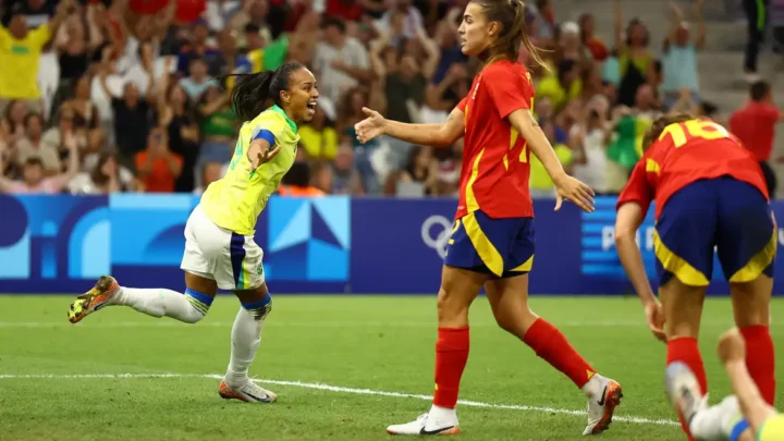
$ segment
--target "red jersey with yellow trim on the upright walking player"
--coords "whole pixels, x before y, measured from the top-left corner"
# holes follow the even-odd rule
[[[530,152],[506,120],[532,101],[534,83],[520,63],[497,61],[474,78],[457,105],[465,114],[465,135],[455,219],[477,210],[497,219],[534,217]]]

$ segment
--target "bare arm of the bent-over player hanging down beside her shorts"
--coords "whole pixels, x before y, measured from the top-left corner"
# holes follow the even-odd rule
[[[645,219],[645,213],[639,204],[628,203],[618,208],[615,219],[615,248],[621,265],[626,270],[626,274],[645,307],[648,328],[657,339],[666,342],[663,329],[664,314],[648,281],[645,264],[642,264],[642,254],[637,246],[637,230],[642,224],[642,219]]]

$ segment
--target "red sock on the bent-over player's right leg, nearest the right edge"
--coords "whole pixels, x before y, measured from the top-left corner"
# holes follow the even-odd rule
[[[775,400],[775,355],[770,328],[751,326],[740,330],[746,341],[746,368],[768,404]]]

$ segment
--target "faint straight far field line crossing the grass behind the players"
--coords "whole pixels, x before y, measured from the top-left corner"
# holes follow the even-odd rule
[[[231,321],[205,321],[197,323],[199,327],[211,328],[231,328]],[[561,328],[646,328],[646,323],[640,320],[608,320],[608,321],[564,321],[555,323]],[[65,320],[62,321],[0,321],[0,328],[177,328],[183,327],[179,321],[174,320],[149,320],[149,321],[90,321],[85,323],[72,324]],[[271,327],[291,327],[291,328],[434,328],[436,321],[421,322],[393,322],[393,321],[275,321],[271,318],[266,326]],[[497,328],[495,323],[480,322],[471,323],[471,328]],[[702,322],[703,327],[732,327],[732,321],[708,321]],[[772,324],[775,327],[775,324]]]

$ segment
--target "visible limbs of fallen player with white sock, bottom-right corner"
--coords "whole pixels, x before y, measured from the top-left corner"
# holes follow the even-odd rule
[[[735,395],[712,407],[707,407],[707,396],[700,392],[697,377],[688,366],[677,362],[667,367],[667,393],[689,421],[694,437],[700,441],[784,440],[784,415],[765,403],[749,376],[746,344],[737,328],[721,336],[718,353]]]

